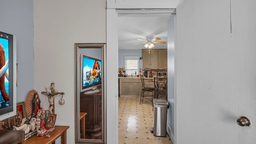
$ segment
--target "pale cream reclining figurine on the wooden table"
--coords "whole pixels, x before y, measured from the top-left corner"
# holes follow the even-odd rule
[[[32,117],[29,124],[25,124],[26,118],[23,118],[19,127],[13,126],[13,130],[24,130],[25,134],[36,129],[36,118]]]

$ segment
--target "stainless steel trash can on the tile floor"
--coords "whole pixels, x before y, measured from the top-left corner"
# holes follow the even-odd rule
[[[167,109],[169,103],[165,99],[154,98],[153,99],[153,131],[154,136],[166,137],[166,121],[167,121]]]

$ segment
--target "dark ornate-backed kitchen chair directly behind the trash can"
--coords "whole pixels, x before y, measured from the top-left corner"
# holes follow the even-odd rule
[[[164,98],[167,100],[167,78],[154,78],[154,98]]]

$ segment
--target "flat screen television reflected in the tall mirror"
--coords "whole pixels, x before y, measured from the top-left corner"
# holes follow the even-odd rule
[[[101,60],[85,55],[80,55],[81,64],[81,89],[84,94],[100,91],[101,87]]]

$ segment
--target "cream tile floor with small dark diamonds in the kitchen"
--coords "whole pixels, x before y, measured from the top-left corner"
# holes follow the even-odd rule
[[[169,135],[154,136],[152,102],[140,97],[119,97],[118,144],[172,144]]]

